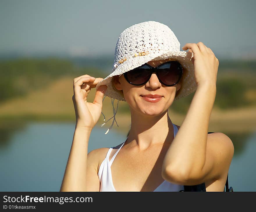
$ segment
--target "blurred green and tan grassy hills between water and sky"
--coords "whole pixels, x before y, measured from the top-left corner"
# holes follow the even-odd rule
[[[227,131],[255,129],[255,65],[255,62],[220,61],[216,100],[209,126],[215,132],[223,127]],[[76,66],[70,60],[58,58],[1,61],[1,120],[75,121],[72,80],[83,74],[102,78],[108,75],[95,67]],[[95,89],[92,89],[89,101],[93,101],[94,95]],[[193,95],[175,101],[170,107],[170,115],[177,124],[182,123]],[[115,107],[116,104],[117,101]],[[113,114],[108,97],[103,103],[103,113],[106,119]],[[130,113],[126,102],[119,102],[116,119],[120,128],[127,131]],[[102,123],[103,116],[99,120],[99,124]]]

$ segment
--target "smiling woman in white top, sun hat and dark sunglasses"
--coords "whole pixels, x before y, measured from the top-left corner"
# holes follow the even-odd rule
[[[223,191],[234,146],[221,132],[207,133],[219,62],[202,42],[185,44],[188,52],[179,51],[179,45],[164,24],[136,24],[119,37],[112,74],[74,79],[77,121],[61,191],[180,191],[202,183],[206,191]],[[182,125],[173,124],[168,108],[195,88]],[[128,103],[131,130],[120,145],[87,155],[104,95]]]

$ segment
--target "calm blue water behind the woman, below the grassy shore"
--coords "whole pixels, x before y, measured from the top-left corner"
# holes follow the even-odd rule
[[[74,123],[31,122],[19,130],[2,131],[0,191],[59,191],[74,127]],[[106,128],[93,129],[89,152],[118,145],[126,139],[125,134],[118,134],[113,129],[106,135],[105,132]],[[256,131],[249,135],[228,136],[235,142],[229,186],[234,191],[256,191]]]

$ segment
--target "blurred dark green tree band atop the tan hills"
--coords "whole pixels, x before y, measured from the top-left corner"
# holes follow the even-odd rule
[[[255,98],[247,98],[248,91],[255,91],[255,61],[220,61],[215,105],[222,108],[236,108],[256,104]],[[77,77],[89,74],[106,77],[107,74],[95,67],[78,67],[67,59],[59,58],[21,58],[0,61],[0,103],[28,94],[33,89],[41,89],[50,82],[68,75]],[[193,93],[194,94],[194,93]],[[172,109],[185,113],[193,94],[174,101]],[[118,108],[128,112],[128,106]]]

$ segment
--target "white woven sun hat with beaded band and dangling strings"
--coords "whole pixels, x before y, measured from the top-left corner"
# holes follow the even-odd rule
[[[173,58],[182,65],[181,88],[174,98],[174,100],[178,100],[191,94],[197,87],[192,62],[193,53],[180,51],[180,43],[173,31],[165,24],[157,21],[145,21],[135,24],[120,34],[115,46],[112,73],[96,85],[96,90],[101,85],[107,86],[104,98],[106,96],[111,98],[114,113],[114,116],[111,117],[114,118],[113,123],[117,111],[114,109],[114,100],[112,98],[125,101],[122,90],[113,88],[113,76],[121,75],[151,60],[164,60],[167,58]],[[113,123],[108,131],[112,128]]]

